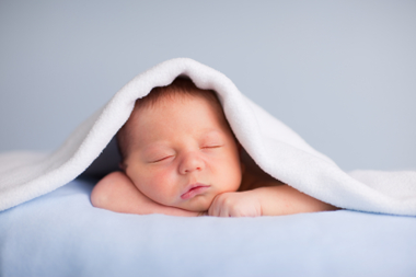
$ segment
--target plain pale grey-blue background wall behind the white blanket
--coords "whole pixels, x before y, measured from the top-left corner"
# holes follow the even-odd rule
[[[0,152],[189,57],[344,170],[416,169],[416,1],[0,1]]]

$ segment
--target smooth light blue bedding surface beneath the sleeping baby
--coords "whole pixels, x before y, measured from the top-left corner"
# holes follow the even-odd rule
[[[91,206],[76,180],[0,212],[0,276],[416,276],[416,218],[181,218]]]

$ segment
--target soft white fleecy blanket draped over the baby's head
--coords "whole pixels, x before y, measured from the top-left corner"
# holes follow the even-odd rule
[[[236,138],[271,176],[340,208],[416,216],[416,172],[347,174],[241,94],[224,74],[187,58],[167,60],[137,76],[55,152],[1,154],[0,210],[47,194],[84,172],[128,119],[135,101],[178,76],[218,93]]]

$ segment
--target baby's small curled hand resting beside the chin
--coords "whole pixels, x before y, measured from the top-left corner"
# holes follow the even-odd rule
[[[208,216],[259,217],[262,216],[262,206],[254,191],[223,193],[213,199]]]

